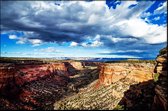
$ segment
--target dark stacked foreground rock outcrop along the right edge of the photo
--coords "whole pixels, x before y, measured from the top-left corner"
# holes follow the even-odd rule
[[[154,72],[159,74],[159,78],[155,87],[153,110],[168,110],[167,47],[160,51],[156,62]]]

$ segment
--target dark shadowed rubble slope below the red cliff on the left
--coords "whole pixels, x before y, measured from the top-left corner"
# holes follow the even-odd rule
[[[71,64],[66,63],[66,65],[70,75],[75,76],[77,72],[80,72]],[[57,69],[54,73],[24,82],[22,85],[16,84],[17,80],[13,77],[0,92],[0,102],[2,103],[0,109],[53,109],[55,101],[66,95],[77,93],[79,88],[98,79],[98,76],[93,77],[93,73],[97,70],[89,71],[88,74],[69,78],[67,75],[61,75],[61,72],[65,72],[64,70]]]

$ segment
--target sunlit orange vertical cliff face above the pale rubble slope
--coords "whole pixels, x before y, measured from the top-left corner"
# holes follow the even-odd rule
[[[99,83],[110,85],[122,78],[129,78],[137,82],[153,79],[154,66],[150,63],[113,63],[99,66]]]

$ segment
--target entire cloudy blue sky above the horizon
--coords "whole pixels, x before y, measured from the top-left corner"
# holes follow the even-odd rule
[[[1,57],[155,58],[167,1],[1,1]]]

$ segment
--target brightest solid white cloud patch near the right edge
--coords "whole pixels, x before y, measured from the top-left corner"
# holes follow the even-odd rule
[[[122,33],[122,36],[133,36],[142,38],[146,43],[162,43],[166,42],[166,27],[158,26],[157,24],[148,24],[142,19],[134,18],[123,20],[116,24],[116,27]]]

